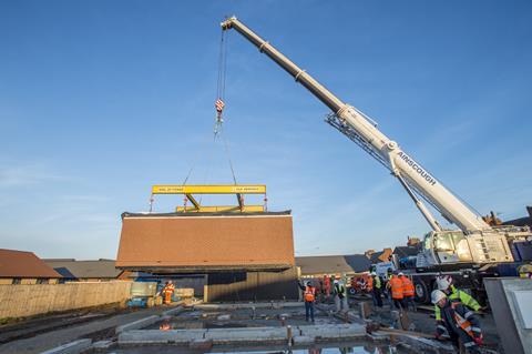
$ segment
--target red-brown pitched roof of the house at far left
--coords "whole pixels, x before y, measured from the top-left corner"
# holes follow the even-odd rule
[[[0,277],[61,277],[33,252],[0,249]]]

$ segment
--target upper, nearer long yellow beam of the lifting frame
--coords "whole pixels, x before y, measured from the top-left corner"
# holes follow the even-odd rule
[[[266,194],[264,184],[160,184],[152,186],[152,194]]]

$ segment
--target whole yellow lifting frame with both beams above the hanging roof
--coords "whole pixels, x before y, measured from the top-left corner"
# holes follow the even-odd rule
[[[175,209],[176,212],[183,213],[264,212],[267,201],[266,185],[264,184],[160,184],[152,186],[152,202],[155,194],[184,194],[186,196],[185,205]],[[235,194],[238,205],[201,205],[193,194]],[[264,194],[265,205],[244,205],[243,194]],[[186,201],[193,205],[187,206]]]

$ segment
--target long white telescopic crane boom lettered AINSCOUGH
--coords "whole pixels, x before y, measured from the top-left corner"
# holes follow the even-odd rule
[[[434,231],[441,231],[440,225],[429,210],[413,193],[417,192],[428,200],[448,221],[454,223],[463,233],[489,231],[491,227],[469,209],[460,199],[443,186],[432,174],[421,166],[411,155],[407,154],[395,141],[379,131],[376,124],[367,119],[355,107],[342,102],[332,92],[316,81],[305,70],[300,69],[282,52],[267,41],[262,39],[244,23],[232,17],[222,22],[222,29],[235,29],[249,40],[258,50],[268,55],[286,72],[303,84],[310,93],[327,105],[332,115],[329,122],[337,129],[354,136],[351,140],[358,143],[370,154],[387,165],[392,174],[399,179],[409,195],[416,202],[417,208],[427,219]]]

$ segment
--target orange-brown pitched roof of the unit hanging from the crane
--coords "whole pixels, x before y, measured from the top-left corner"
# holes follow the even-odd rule
[[[289,212],[124,213],[116,265],[153,272],[290,267],[293,219]]]

